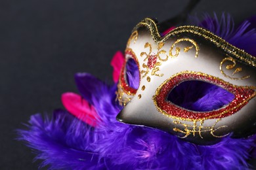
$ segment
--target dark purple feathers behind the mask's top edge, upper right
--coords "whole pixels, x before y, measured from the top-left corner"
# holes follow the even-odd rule
[[[220,20],[216,14],[213,17],[205,14],[202,22],[196,17],[190,17],[190,20],[193,25],[204,27],[230,44],[256,56],[256,16],[245,20],[237,28],[232,17],[224,13]]]

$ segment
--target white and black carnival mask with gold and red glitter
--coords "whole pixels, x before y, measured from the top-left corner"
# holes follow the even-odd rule
[[[126,63],[117,97],[124,109],[117,120],[154,127],[196,144],[213,144],[222,137],[248,137],[255,133],[256,58],[201,27],[177,27],[161,36],[150,18],[140,22],[127,42]],[[137,84],[127,80],[127,67],[137,66]],[[131,75],[130,75],[131,76]],[[189,86],[189,88],[184,88]],[[211,86],[215,109],[200,102]],[[190,101],[179,88],[192,91]],[[214,94],[215,93],[215,94]],[[214,103],[216,104],[216,103]]]

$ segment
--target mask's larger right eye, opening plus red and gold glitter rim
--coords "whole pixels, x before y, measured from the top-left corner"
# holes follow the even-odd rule
[[[182,86],[186,87],[184,91]],[[188,88],[189,86],[195,88]],[[190,93],[188,89],[191,89]],[[223,92],[225,95],[218,96],[219,92],[216,94],[211,92],[209,95],[209,90],[220,90],[220,93]],[[226,98],[224,102],[222,97]],[[198,121],[230,116],[242,109],[253,97],[255,90],[251,86],[235,86],[205,73],[184,71],[165,80],[156,90],[153,101],[158,111],[166,116],[179,120]],[[214,101],[211,101],[213,99]],[[218,99],[222,102],[215,105],[214,102],[219,102]],[[198,103],[200,100],[202,102]],[[196,107],[194,107],[195,103]]]

